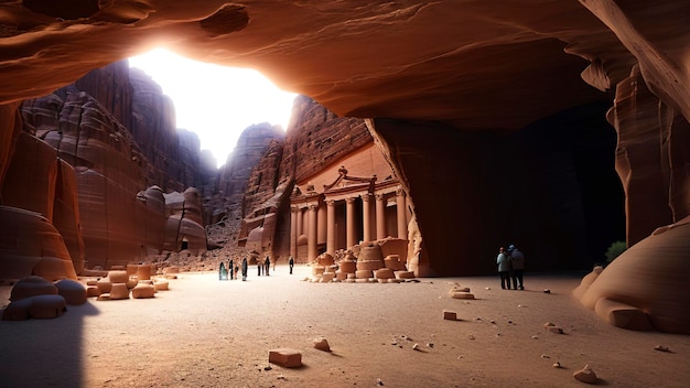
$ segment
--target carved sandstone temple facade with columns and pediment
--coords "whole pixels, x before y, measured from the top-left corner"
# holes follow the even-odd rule
[[[409,200],[370,143],[297,182],[290,198],[290,255],[304,262],[362,241],[407,239]]]

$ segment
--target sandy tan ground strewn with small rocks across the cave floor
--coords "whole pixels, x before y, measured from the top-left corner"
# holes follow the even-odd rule
[[[2,321],[0,386],[582,387],[572,375],[585,364],[601,386],[690,385],[690,336],[608,325],[570,294],[583,273],[527,273],[527,290],[513,291],[497,277],[311,283],[309,271],[257,277],[255,267],[246,282],[182,273],[154,299]],[[454,283],[476,300],[451,299]],[[461,321],[443,320],[444,309]],[[313,347],[319,336],[332,352]],[[301,351],[303,366],[269,364],[277,347]]]

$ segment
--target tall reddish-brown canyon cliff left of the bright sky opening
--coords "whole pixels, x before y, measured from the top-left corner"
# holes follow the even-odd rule
[[[72,273],[180,250],[187,240],[195,254],[206,249],[202,197],[185,192],[181,209],[162,196],[200,177],[198,138],[177,132],[170,98],[134,74],[126,61],[114,63],[19,110],[2,204],[54,225],[68,252],[58,258],[73,262]],[[180,218],[185,227],[169,241],[168,225]]]

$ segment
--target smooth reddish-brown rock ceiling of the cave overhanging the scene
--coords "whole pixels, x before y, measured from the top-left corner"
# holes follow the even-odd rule
[[[467,130],[605,99],[639,63],[687,117],[688,14],[684,1],[4,1],[0,104],[165,46],[339,116]]]

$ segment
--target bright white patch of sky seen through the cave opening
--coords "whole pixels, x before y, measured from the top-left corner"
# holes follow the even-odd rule
[[[175,106],[177,128],[195,132],[202,150],[225,164],[241,132],[270,122],[288,129],[297,94],[283,91],[259,72],[196,62],[165,48],[130,57]]]

